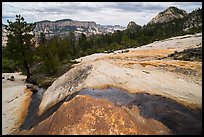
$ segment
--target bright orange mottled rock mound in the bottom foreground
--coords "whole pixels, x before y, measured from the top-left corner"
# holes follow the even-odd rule
[[[77,95],[30,134],[171,134],[159,121],[146,119],[139,109],[115,106],[104,99]]]

